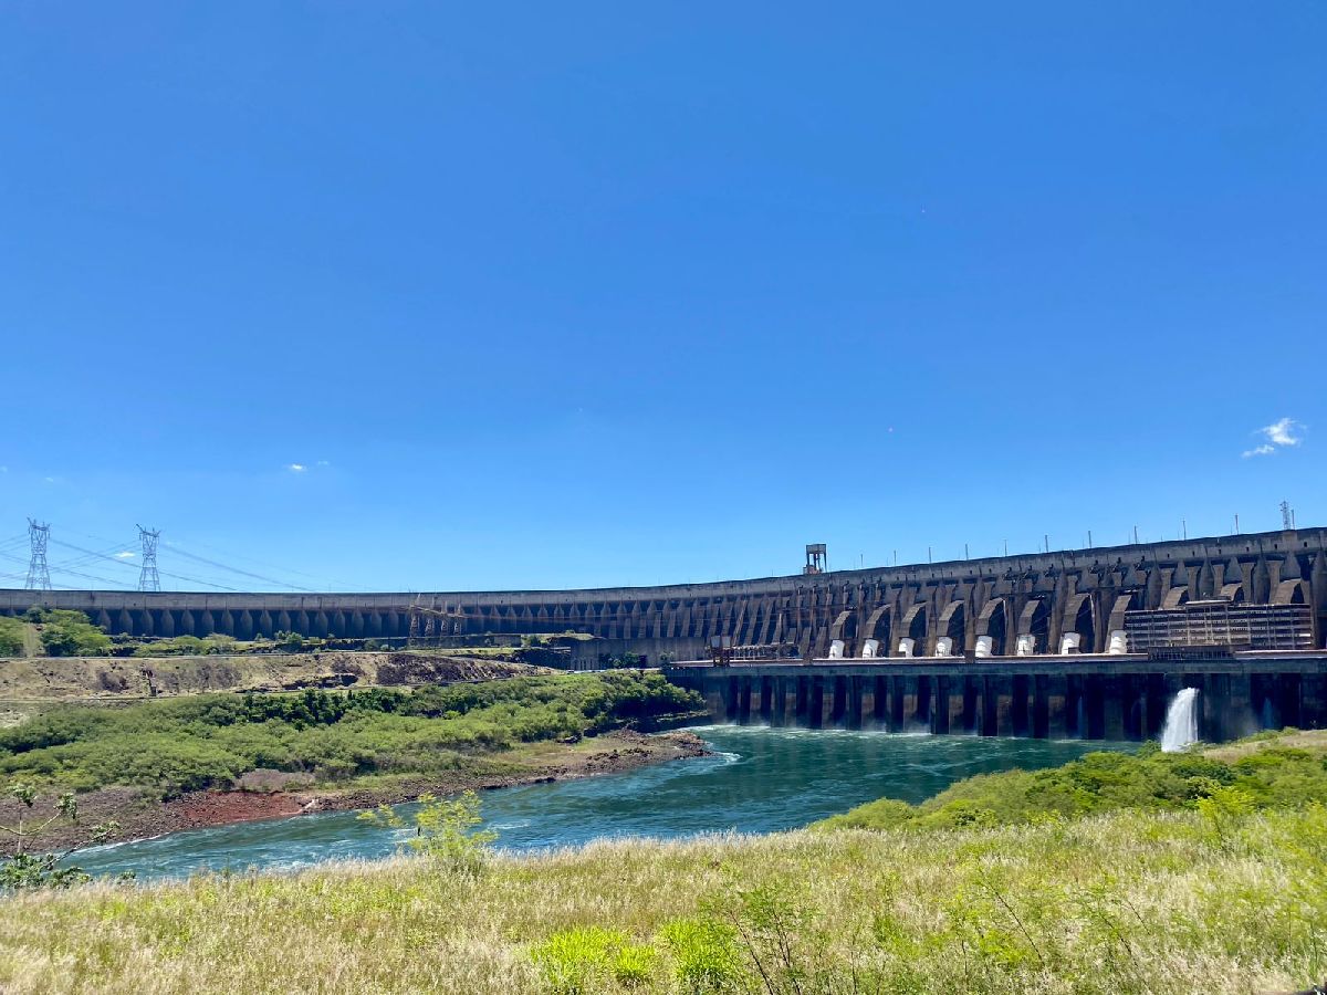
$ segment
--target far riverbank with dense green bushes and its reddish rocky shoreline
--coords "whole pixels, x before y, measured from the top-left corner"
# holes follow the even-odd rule
[[[610,671],[297,695],[214,694],[115,708],[54,706],[0,730],[0,825],[41,824],[74,792],[80,820],[56,820],[27,848],[65,848],[113,820],[117,838],[301,812],[405,801],[429,791],[587,776],[685,755],[694,738],[642,736],[695,695],[658,674]],[[15,833],[0,848],[17,846]]]

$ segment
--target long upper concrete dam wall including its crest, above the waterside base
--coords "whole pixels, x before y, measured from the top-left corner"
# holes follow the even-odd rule
[[[820,549],[820,547],[816,547]],[[1327,634],[1327,529],[1217,536],[787,577],[583,590],[279,594],[0,590],[0,614],[88,613],[110,633],[369,638],[576,631],[577,655],[889,659],[1108,654],[1128,613],[1189,604],[1290,609]],[[1303,621],[1307,620],[1307,621]],[[1141,630],[1140,630],[1141,631]],[[1298,645],[1298,643],[1296,643]],[[1112,646],[1115,647],[1112,650]]]

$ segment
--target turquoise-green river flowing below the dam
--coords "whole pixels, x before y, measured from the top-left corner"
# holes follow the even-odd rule
[[[921,801],[974,773],[1054,767],[1125,743],[889,735],[706,726],[714,756],[629,773],[484,792],[484,819],[510,850],[573,846],[606,836],[677,837],[791,829],[878,797]],[[402,807],[409,809],[409,807]],[[194,872],[292,870],[326,860],[386,857],[399,837],[325,812],[192,829],[98,846],[77,862],[139,880]]]

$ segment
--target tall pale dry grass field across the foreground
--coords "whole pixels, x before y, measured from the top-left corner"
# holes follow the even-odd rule
[[[727,974],[679,976],[683,951],[664,937],[697,918],[727,930]],[[1259,992],[1327,975],[1324,922],[1320,807],[1117,812],[936,833],[600,842],[498,857],[478,880],[399,858],[20,896],[0,902],[0,987]],[[549,937],[577,941],[588,927],[646,947],[644,974],[536,959]]]

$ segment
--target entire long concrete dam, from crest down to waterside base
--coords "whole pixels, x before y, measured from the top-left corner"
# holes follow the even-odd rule
[[[0,592],[32,605],[139,637],[576,631],[576,663],[640,654],[736,720],[1139,738],[1194,686],[1209,736],[1327,726],[1320,528],[650,588]]]

